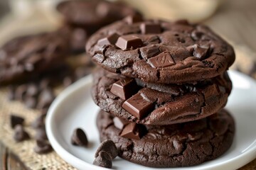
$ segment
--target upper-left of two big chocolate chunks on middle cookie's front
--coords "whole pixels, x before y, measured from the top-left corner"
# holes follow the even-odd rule
[[[137,91],[137,84],[135,83],[134,79],[125,78],[115,82],[110,92],[123,100],[130,98],[133,94]]]

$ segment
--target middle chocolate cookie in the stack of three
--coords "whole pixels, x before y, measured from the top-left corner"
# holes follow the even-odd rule
[[[228,74],[193,84],[151,84],[98,69],[92,98],[103,111],[136,123],[171,125],[205,118],[225,106]]]

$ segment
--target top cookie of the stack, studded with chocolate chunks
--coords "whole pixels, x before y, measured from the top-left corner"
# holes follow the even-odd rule
[[[175,84],[216,77],[233,64],[233,47],[207,26],[129,16],[100,29],[86,45],[109,72]]]

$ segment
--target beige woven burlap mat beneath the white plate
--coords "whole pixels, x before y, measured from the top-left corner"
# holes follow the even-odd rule
[[[244,72],[248,72],[247,68],[252,63],[252,60],[256,59],[254,52],[250,52],[244,47],[235,47],[237,60],[233,68],[240,68]],[[60,90],[57,90],[57,93]],[[30,135],[34,135],[35,132],[31,128],[31,123],[40,114],[39,111],[28,109],[22,103],[18,101],[9,101],[7,88],[0,89],[0,140],[9,147],[14,154],[16,154],[21,162],[25,164],[28,169],[74,169],[61,159],[55,152],[49,154],[39,155],[33,152],[35,147],[35,140],[27,140],[24,142],[15,142],[13,140],[13,130],[9,125],[9,114],[15,113],[26,118],[25,128]],[[242,167],[241,169],[251,170],[256,169],[256,159]]]

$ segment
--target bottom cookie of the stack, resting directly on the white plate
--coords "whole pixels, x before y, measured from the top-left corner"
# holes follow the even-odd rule
[[[146,125],[140,140],[121,137],[111,114],[97,115],[100,140],[111,139],[119,157],[151,167],[193,166],[219,157],[233,142],[235,123],[231,115],[219,111],[201,120],[166,126]]]

